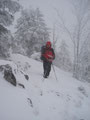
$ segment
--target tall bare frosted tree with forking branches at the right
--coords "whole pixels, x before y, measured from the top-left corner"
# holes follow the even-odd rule
[[[73,6],[73,15],[76,17],[73,31],[69,30],[59,11],[57,9],[56,11],[60,19],[60,27],[69,35],[74,45],[73,76],[79,79],[81,48],[88,34],[90,34],[90,0],[70,0],[70,3]]]

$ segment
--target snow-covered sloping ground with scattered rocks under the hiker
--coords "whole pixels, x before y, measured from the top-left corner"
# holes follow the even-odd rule
[[[0,72],[0,120],[90,120],[90,83],[81,82],[55,67],[43,79],[42,63],[13,54],[9,64],[18,83],[14,87]],[[29,76],[29,80],[24,75]]]

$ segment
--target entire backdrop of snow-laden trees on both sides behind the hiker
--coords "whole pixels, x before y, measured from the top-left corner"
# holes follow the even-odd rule
[[[68,35],[73,44],[73,62],[70,57],[69,46],[62,40],[57,50],[57,42],[60,39],[56,33],[57,27],[51,29],[46,25],[44,15],[39,8],[23,9],[12,0],[0,0],[0,58],[9,58],[11,53],[20,53],[30,57],[40,52],[41,46],[53,36],[53,48],[56,59],[54,64],[59,68],[70,71],[78,80],[90,82],[90,0],[69,0],[72,5],[72,14],[75,22],[72,29],[66,26],[65,20],[58,9],[55,9],[58,17],[56,26],[60,32]],[[14,21],[16,12],[21,15],[15,25],[14,35],[8,30]],[[37,57],[37,56],[36,56]]]

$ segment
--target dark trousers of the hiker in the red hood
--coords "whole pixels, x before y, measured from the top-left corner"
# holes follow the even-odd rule
[[[44,76],[47,77],[51,71],[51,64],[50,62],[43,61],[43,69],[44,69]]]

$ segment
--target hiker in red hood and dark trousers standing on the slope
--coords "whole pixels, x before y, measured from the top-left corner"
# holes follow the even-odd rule
[[[44,74],[43,77],[47,78],[51,71],[52,61],[55,59],[55,53],[51,46],[51,42],[47,41],[45,46],[41,48],[41,60],[43,61]]]

